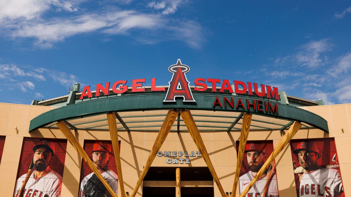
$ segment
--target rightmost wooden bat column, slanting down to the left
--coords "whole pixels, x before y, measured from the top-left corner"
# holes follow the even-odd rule
[[[285,146],[290,142],[291,138],[296,134],[296,132],[301,128],[302,124],[295,121],[288,132],[284,135],[282,140],[278,143],[277,147],[273,150],[271,156],[268,157],[266,162],[263,164],[261,169],[257,172],[257,175],[252,179],[252,181],[247,185],[246,189],[241,193],[240,197],[244,197],[247,192],[252,188],[252,186],[256,183],[257,179],[263,175],[264,171],[268,168],[268,166],[273,162],[273,160],[279,155],[279,153],[285,148]]]

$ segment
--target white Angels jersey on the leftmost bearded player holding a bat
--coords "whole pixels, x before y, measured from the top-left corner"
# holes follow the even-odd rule
[[[35,171],[34,171],[35,172]],[[57,172],[50,170],[40,178],[34,178],[34,172],[29,176],[23,196],[25,197],[60,197],[62,177]],[[27,174],[17,179],[16,196]]]

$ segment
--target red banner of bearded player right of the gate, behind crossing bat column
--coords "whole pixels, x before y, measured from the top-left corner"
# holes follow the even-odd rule
[[[256,176],[273,151],[273,143],[247,142],[239,177],[240,194]],[[272,163],[274,164],[274,162]],[[277,176],[273,165],[265,170],[245,197],[278,197]]]

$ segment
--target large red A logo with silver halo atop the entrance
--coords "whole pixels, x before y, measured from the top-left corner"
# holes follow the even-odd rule
[[[185,76],[185,73],[189,72],[190,68],[185,64],[181,64],[180,59],[178,59],[177,64],[173,64],[168,70],[173,75],[171,81],[168,82],[170,87],[163,102],[175,102],[176,97],[183,97],[183,102],[196,102],[190,90],[190,82]]]

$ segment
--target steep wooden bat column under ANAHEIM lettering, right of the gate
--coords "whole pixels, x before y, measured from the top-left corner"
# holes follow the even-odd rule
[[[241,125],[241,132],[240,132],[237,168],[235,170],[234,184],[233,184],[233,190],[232,190],[231,197],[235,196],[235,194],[237,192],[239,173],[240,173],[241,163],[243,162],[244,150],[245,150],[247,137],[249,136],[251,118],[252,118],[252,114],[249,114],[246,112],[244,113],[243,124]]]

